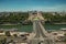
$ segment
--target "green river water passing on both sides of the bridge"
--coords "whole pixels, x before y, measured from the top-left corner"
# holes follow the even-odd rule
[[[44,24],[45,30],[61,30],[66,29],[66,24]],[[22,32],[32,32],[32,25],[0,25],[0,29],[11,30],[18,29],[18,31]]]

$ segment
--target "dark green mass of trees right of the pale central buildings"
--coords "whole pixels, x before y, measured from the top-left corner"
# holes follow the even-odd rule
[[[58,13],[43,13],[43,16],[48,22],[66,22],[66,14],[58,14]]]

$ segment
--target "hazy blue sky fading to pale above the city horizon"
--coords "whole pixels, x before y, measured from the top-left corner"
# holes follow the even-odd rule
[[[0,11],[66,11],[66,0],[0,0]]]

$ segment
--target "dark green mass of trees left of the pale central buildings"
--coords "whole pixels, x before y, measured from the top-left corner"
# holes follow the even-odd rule
[[[28,12],[9,13],[0,16],[0,23],[18,23],[26,20],[29,16]]]

